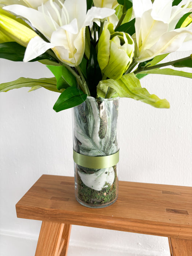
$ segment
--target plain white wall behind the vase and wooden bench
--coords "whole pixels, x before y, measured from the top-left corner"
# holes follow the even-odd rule
[[[182,56],[170,55],[167,61]],[[20,76],[41,78],[52,74],[40,63],[0,59],[0,83]],[[121,99],[119,178],[191,186],[192,80],[148,75],[141,82],[150,93],[166,98],[170,109]],[[38,237],[41,222],[18,219],[15,211],[15,204],[31,185],[42,174],[74,175],[71,110],[54,112],[57,93],[43,88],[28,90],[0,93],[0,233],[15,236],[14,241],[18,237]],[[90,255],[90,248],[118,249],[128,256],[169,255],[167,238],[80,226],[72,227],[70,243],[83,246],[78,253],[84,256]],[[35,250],[35,242],[31,246]],[[29,256],[22,248],[18,250],[20,256]],[[74,249],[69,253],[72,256],[77,252]]]

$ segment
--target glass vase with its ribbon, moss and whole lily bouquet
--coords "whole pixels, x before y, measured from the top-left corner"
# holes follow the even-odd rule
[[[140,82],[148,74],[192,78],[166,68],[192,68],[192,54],[163,63],[190,50],[190,0],[0,0],[0,57],[39,61],[53,73],[2,83],[0,91],[44,87],[60,94],[56,112],[73,108],[76,198],[89,207],[117,199],[118,98],[169,108]],[[99,164],[90,163],[95,157]]]

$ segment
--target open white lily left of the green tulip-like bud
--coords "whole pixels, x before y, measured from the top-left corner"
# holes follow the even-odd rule
[[[97,7],[87,11],[86,0],[65,0],[64,4],[60,0],[49,0],[38,7],[38,10],[22,5],[9,5],[4,9],[29,20],[49,41],[40,37],[31,39],[24,62],[51,48],[63,63],[70,66],[79,65],[83,58],[85,27],[91,25],[94,19],[104,19],[115,12],[109,8]]]

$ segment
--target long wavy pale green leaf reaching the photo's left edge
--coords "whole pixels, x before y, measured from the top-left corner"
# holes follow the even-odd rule
[[[32,78],[20,77],[19,79],[12,82],[1,83],[0,92],[9,91],[12,89],[19,89],[22,87],[34,87],[34,86],[41,86],[50,91],[56,91],[57,93],[61,93],[63,91],[63,90],[61,91],[57,90],[55,78],[32,79]]]

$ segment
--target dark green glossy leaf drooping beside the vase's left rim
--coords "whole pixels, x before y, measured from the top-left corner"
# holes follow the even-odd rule
[[[61,93],[53,109],[59,112],[64,109],[73,108],[83,103],[87,98],[87,94],[84,94],[81,90],[76,87],[68,87]]]

